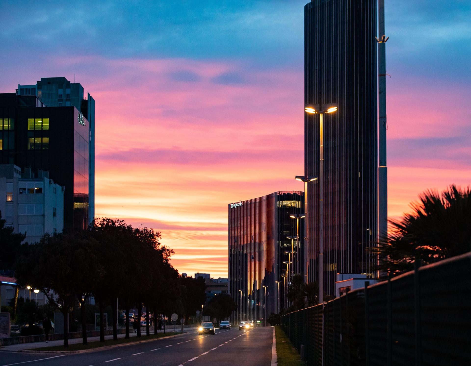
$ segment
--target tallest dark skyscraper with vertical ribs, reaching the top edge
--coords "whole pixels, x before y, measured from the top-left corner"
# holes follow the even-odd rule
[[[374,276],[377,238],[376,0],[304,7],[304,103],[324,119],[324,291],[337,273]],[[305,114],[305,175],[319,176],[319,114]],[[308,187],[308,279],[318,280],[319,182]]]

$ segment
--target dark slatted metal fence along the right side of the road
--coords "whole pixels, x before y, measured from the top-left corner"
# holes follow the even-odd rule
[[[324,322],[323,322],[324,318]],[[294,311],[308,365],[471,365],[471,253]]]

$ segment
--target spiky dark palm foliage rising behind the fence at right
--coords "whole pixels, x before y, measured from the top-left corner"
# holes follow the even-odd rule
[[[471,190],[451,185],[441,194],[428,190],[411,203],[412,213],[392,226],[386,241],[380,241],[382,278],[412,271],[414,262],[435,263],[471,250]]]

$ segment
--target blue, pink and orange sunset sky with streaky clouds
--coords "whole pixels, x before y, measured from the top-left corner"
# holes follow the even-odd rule
[[[0,93],[75,74],[96,100],[96,215],[161,231],[180,272],[227,277],[227,204],[303,189],[306,2],[1,1]],[[471,2],[385,9],[400,217],[471,181]]]

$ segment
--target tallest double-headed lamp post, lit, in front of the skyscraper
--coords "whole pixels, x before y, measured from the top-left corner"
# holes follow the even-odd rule
[[[337,111],[337,104],[324,104],[322,109],[318,104],[304,108],[306,113],[319,114],[319,302],[324,302],[324,113]]]

